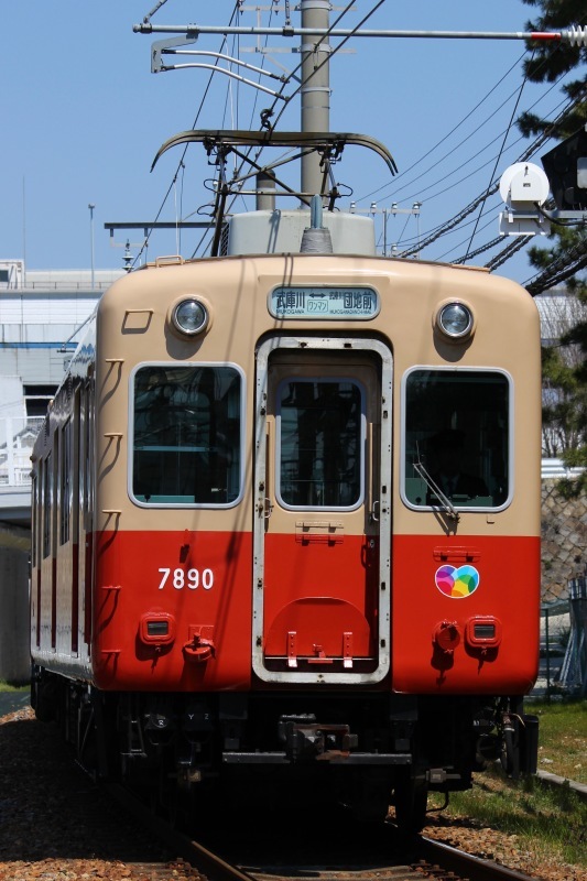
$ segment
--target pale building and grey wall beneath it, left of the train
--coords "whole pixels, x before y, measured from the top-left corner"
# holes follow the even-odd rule
[[[30,671],[32,447],[85,323],[122,274],[0,260],[0,678],[9,682]]]

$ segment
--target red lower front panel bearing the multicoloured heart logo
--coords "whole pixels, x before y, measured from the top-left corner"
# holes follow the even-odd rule
[[[540,646],[537,537],[393,540],[392,687],[525,694]]]

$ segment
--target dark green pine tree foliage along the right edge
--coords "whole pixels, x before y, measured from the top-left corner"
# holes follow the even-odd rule
[[[524,0],[540,11],[528,22],[529,31],[567,29],[573,24],[587,24],[585,0]],[[572,70],[585,69],[587,47],[544,42],[529,45],[531,56],[525,62],[524,74],[533,83],[555,83]],[[563,86],[569,100],[568,111],[553,123],[533,113],[523,113],[518,121],[522,134],[530,137],[548,133],[564,140],[587,123],[587,75]],[[553,226],[552,247],[532,248],[530,262],[540,272],[565,265],[574,273],[565,279],[566,290],[583,304],[583,315],[570,324],[558,342],[543,350],[545,400],[543,418],[551,431],[556,455],[566,465],[587,467],[587,232],[585,227]],[[556,276],[556,273],[554,273]],[[561,275],[558,276],[561,278]],[[577,481],[565,481],[568,492],[587,489],[587,471]]]

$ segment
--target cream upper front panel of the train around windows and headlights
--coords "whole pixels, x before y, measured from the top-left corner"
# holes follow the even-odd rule
[[[369,286],[379,296],[379,314],[368,320],[275,318],[268,297],[278,286]],[[170,324],[172,304],[198,296],[210,311],[207,331],[182,338]],[[438,305],[457,300],[469,305],[475,331],[465,342],[449,342],[435,330]],[[514,481],[524,487],[494,514],[464,512],[458,531],[491,534],[540,532],[540,322],[532,297],[518,284],[483,271],[420,261],[339,255],[217,258],[181,265],[150,267],[120,280],[98,308],[96,367],[98,418],[98,507],[120,510],[121,525],[140,509],[126,486],[129,382],[137,365],[202,361],[236,365],[246,377],[244,494],[227,526],[226,510],[170,510],[166,529],[226,530],[250,526],[251,452],[254,443],[254,354],[275,334],[365,335],[385,341],[393,355],[393,531],[442,534],[430,511],[410,510],[400,500],[401,382],[414,366],[494,368],[513,380]],[[101,463],[101,470],[100,470]],[[141,524],[160,521],[156,509],[142,510]],[[99,525],[105,527],[108,514]]]

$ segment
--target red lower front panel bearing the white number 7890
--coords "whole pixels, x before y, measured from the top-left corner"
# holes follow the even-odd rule
[[[250,533],[101,533],[93,633],[100,688],[248,688]]]

